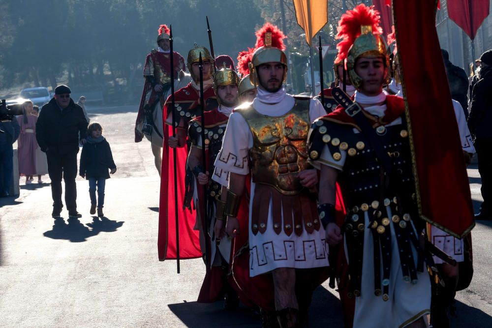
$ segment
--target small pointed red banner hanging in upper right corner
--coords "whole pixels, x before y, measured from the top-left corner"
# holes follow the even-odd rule
[[[448,16],[469,37],[474,39],[477,30],[489,16],[490,0],[448,0]]]

